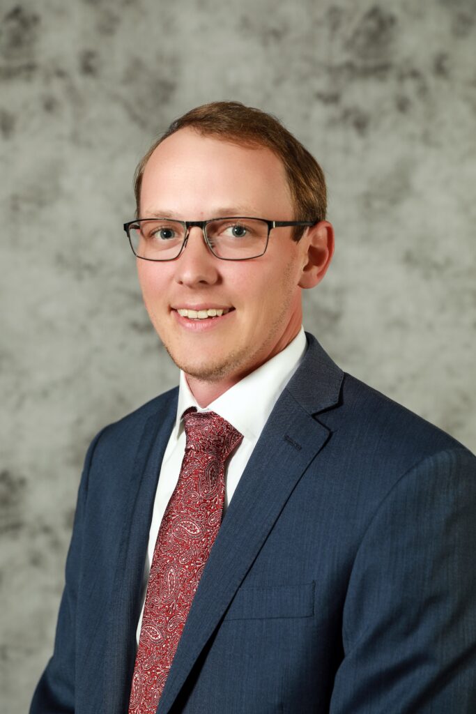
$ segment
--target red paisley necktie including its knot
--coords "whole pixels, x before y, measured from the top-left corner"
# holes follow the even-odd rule
[[[148,578],[129,714],[155,714],[220,528],[225,461],[242,434],[212,412],[183,414],[186,448],[175,491],[158,531]]]

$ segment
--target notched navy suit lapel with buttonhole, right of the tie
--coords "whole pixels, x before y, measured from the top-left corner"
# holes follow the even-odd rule
[[[308,339],[303,363],[276,403],[223,519],[173,659],[160,714],[170,712],[290,494],[328,439],[328,428],[313,415],[337,403],[343,373],[312,336]]]

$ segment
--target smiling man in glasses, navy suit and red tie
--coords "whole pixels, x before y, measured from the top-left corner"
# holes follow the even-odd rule
[[[474,713],[476,460],[303,333],[334,247],[318,164],[210,104],[136,198],[180,388],[89,448],[31,712]]]

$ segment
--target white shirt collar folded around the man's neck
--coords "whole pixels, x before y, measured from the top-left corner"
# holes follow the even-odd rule
[[[245,438],[258,438],[280,393],[298,368],[308,347],[303,327],[283,351],[255,369],[207,407],[201,408],[191,393],[183,371],[180,373],[175,437],[180,436],[186,409],[214,411],[231,423]],[[253,408],[250,408],[253,405]]]

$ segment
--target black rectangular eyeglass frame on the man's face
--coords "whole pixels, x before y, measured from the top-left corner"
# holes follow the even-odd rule
[[[263,253],[258,253],[257,256],[251,256],[249,258],[222,258],[221,256],[217,256],[217,254],[213,251],[213,248],[211,247],[211,243],[208,240],[207,232],[206,232],[206,227],[208,226],[208,223],[213,223],[214,221],[238,221],[238,219],[244,220],[244,221],[263,221],[263,223],[266,223],[268,226],[268,236],[266,236],[266,243],[265,247],[263,248]],[[131,241],[131,232],[130,228],[133,226],[135,223],[141,223],[142,221],[173,221],[173,223],[180,223],[183,228],[185,228],[185,236],[183,236],[183,243],[181,245],[180,251],[178,251],[177,255],[174,256],[173,258],[144,258],[143,256],[138,256],[136,251],[134,251],[132,241]],[[135,221],[128,221],[127,223],[123,224],[124,231],[126,231],[126,235],[128,237],[129,245],[131,246],[133,254],[136,256],[136,258],[140,258],[141,261],[151,261],[153,263],[167,263],[170,261],[176,261],[177,258],[180,258],[181,254],[183,253],[183,249],[186,247],[187,241],[188,241],[188,236],[190,235],[190,229],[191,228],[201,228],[202,233],[203,233],[203,240],[206,242],[206,245],[208,246],[208,250],[212,253],[213,256],[218,258],[220,261],[252,261],[255,258],[260,258],[263,256],[266,252],[266,248],[268,248],[268,242],[270,238],[270,232],[273,230],[273,228],[288,228],[290,226],[305,226],[306,228],[310,228],[310,226],[314,226],[315,223],[318,223],[318,221],[268,221],[267,218],[255,218],[254,216],[222,216],[221,218],[208,218],[207,221],[178,221],[176,218],[164,218],[163,216],[158,216],[156,218],[136,218]]]

